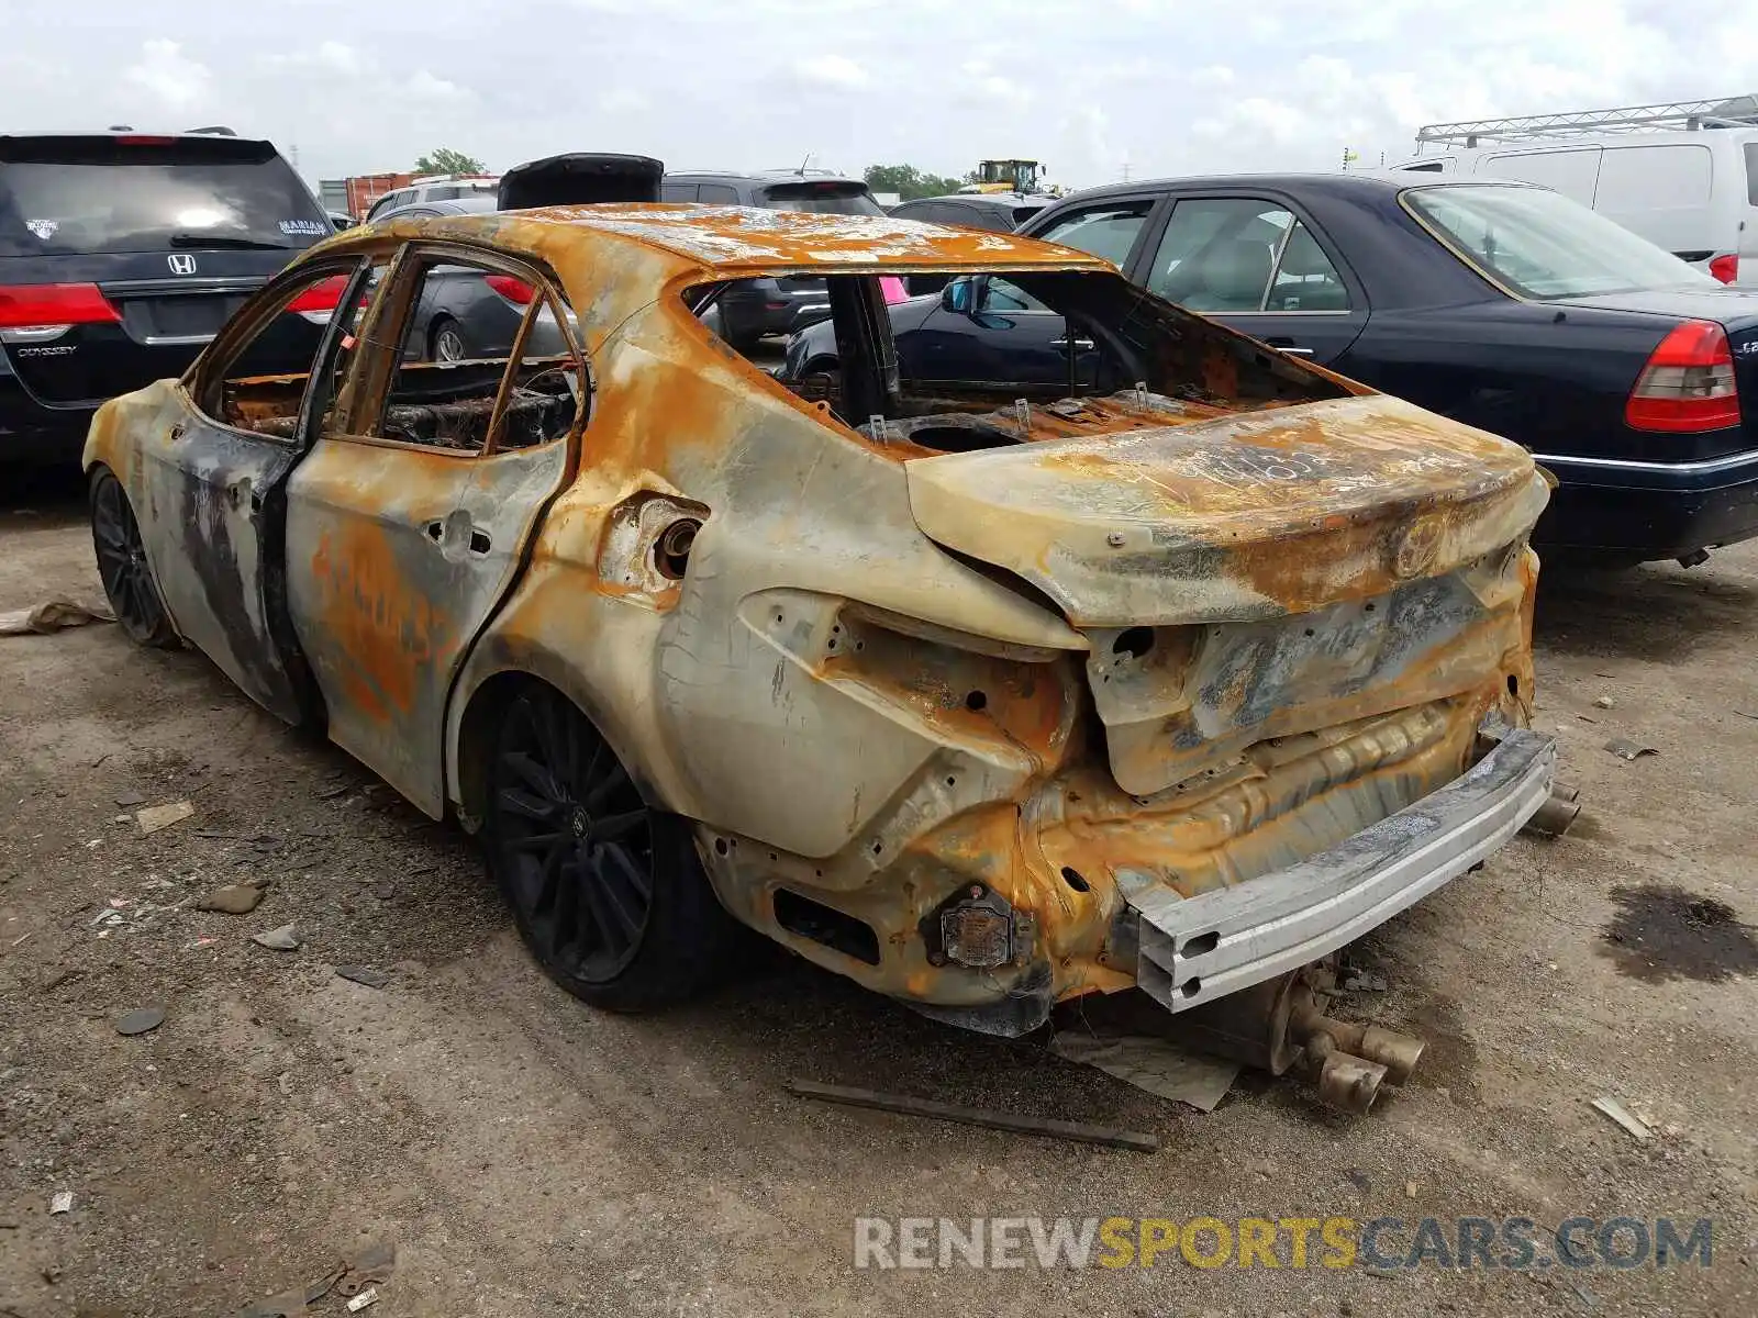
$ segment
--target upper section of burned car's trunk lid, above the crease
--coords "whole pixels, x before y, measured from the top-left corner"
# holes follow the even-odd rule
[[[944,548],[1078,627],[1304,613],[1507,550],[1549,499],[1524,448],[1384,394],[905,464]]]

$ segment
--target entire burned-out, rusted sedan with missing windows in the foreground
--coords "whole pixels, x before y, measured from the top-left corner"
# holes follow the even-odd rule
[[[568,351],[401,362],[422,269],[457,262],[526,281]],[[700,316],[803,271],[840,369],[782,385]],[[914,388],[879,279],[923,272],[1055,308],[1067,380]],[[313,281],[311,374],[244,373]],[[130,633],[480,829],[533,951],[612,1007],[700,982],[731,912],[979,1030],[1130,986],[1185,1010],[1419,900],[1551,787],[1524,450],[1013,235],[369,225],[105,406],[86,466]]]

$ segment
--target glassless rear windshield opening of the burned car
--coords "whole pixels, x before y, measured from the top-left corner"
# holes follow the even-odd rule
[[[965,452],[1180,425],[1347,397],[1317,371],[1190,315],[1120,274],[833,274],[828,318],[796,330],[786,364],[752,351],[798,397],[888,443]],[[909,295],[909,285],[941,283]],[[686,304],[717,325],[708,285]],[[986,330],[983,348],[958,344]]]

